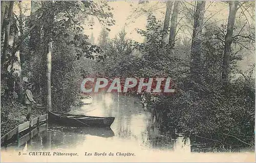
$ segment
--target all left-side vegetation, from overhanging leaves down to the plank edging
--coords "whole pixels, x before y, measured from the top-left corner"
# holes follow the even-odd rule
[[[9,2],[7,11],[13,10]],[[9,41],[7,56],[1,52],[1,131],[6,133],[26,119],[24,93],[26,84],[32,83],[32,92],[37,104],[46,106],[47,96],[47,53],[49,42],[52,50],[52,106],[53,110],[67,112],[72,104],[77,104],[80,93],[78,81],[82,78],[84,67],[82,60],[104,58],[101,49],[91,44],[84,35],[83,24],[92,28],[92,17],[105,26],[115,24],[113,14],[106,2],[31,2],[31,14],[25,15],[28,6],[23,2],[14,2],[18,8],[11,19],[5,15],[2,30],[2,42]],[[19,11],[17,13],[17,11]],[[8,13],[8,12],[6,12]],[[6,24],[10,23],[10,36],[5,39]],[[12,44],[11,44],[11,43]],[[4,49],[1,46],[2,50]],[[5,59],[5,61],[3,60]],[[41,115],[33,108],[33,116]],[[46,108],[44,107],[44,113]],[[19,117],[15,120],[14,117]]]

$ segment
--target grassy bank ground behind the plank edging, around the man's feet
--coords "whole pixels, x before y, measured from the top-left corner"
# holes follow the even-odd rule
[[[32,107],[31,119],[46,114],[45,107]],[[6,103],[1,108],[1,137],[19,124],[27,121],[27,108],[20,103]]]

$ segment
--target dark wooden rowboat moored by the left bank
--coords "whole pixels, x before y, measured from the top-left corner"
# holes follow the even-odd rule
[[[48,120],[50,123],[71,126],[110,127],[114,122],[115,117],[93,117],[48,111]]]

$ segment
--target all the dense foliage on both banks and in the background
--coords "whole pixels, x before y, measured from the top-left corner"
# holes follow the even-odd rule
[[[148,2],[141,1],[139,4],[147,5]],[[34,86],[32,92],[37,103],[46,105],[46,56],[48,44],[52,41],[54,110],[67,112],[70,105],[77,103],[78,81],[87,76],[171,77],[172,87],[176,90],[174,94],[130,92],[139,95],[143,103],[155,106],[153,112],[157,114],[161,127],[183,132],[194,141],[213,142],[219,147],[253,146],[254,65],[247,72],[242,72],[237,66],[252,48],[253,27],[249,22],[237,20],[236,24],[240,24],[241,28],[235,25],[233,32],[234,46],[231,46],[229,62],[231,77],[228,82],[223,82],[227,24],[219,25],[207,19],[200,43],[201,74],[194,81],[190,72],[191,39],[177,35],[174,46],[162,43],[163,22],[151,13],[153,9],[140,11],[147,13],[146,28],[137,30],[144,37],[142,43],[127,39],[125,28],[115,38],[109,37],[108,26],[115,24],[115,21],[111,13],[113,8],[107,2],[43,2],[35,12],[31,10],[30,16],[5,18],[4,26],[12,22],[10,35],[13,44],[7,48],[7,59],[1,69],[2,124],[7,124],[11,111],[17,111],[13,109],[15,105],[23,102],[28,82]],[[185,24],[189,22],[190,26],[179,24],[180,28],[191,28],[194,25],[191,23],[194,8],[184,7],[181,13],[186,17]],[[91,17],[96,17],[104,25],[97,45],[92,44],[83,33],[84,23],[93,28]],[[17,27],[19,22],[24,23]],[[2,38],[5,30],[1,33]],[[20,61],[19,73],[13,66],[17,61]]]

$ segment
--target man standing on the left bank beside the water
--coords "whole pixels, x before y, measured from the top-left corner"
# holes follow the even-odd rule
[[[29,83],[27,84],[27,89],[26,89],[26,93],[25,93],[25,105],[27,107],[27,120],[30,120],[30,115],[31,115],[31,111],[32,111],[32,103],[36,103],[35,100],[33,99],[33,94],[31,92],[32,89],[32,84]]]

